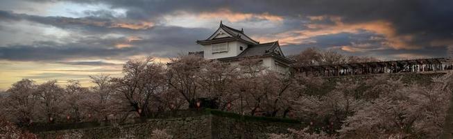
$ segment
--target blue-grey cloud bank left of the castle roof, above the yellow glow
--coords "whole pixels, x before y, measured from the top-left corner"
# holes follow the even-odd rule
[[[151,37],[127,42],[127,38],[78,38],[76,42],[34,42],[33,44],[11,44],[0,46],[0,59],[22,61],[54,61],[83,58],[107,58],[127,60],[128,56],[144,55],[173,57],[198,51],[196,39],[204,38],[210,30],[205,28],[180,28],[156,26],[148,34]],[[135,34],[140,35],[140,34]],[[127,42],[131,47],[117,48],[115,44]],[[82,64],[82,63],[67,63]],[[84,63],[105,64],[105,63]]]

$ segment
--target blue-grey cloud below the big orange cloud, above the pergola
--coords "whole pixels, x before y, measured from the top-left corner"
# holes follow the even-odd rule
[[[338,51],[350,56],[373,56],[382,60],[407,58],[445,57],[446,47],[421,47],[419,49],[391,49],[382,47],[386,40],[382,35],[369,32],[338,33],[333,35],[318,35],[309,38],[314,42],[307,44],[289,44],[282,47],[287,55],[298,54],[301,49],[316,47],[318,49]]]

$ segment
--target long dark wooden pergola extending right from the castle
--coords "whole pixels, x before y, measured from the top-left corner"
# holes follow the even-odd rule
[[[412,60],[390,60],[368,63],[337,65],[292,66],[295,72],[319,76],[343,76],[360,74],[384,74],[402,72],[437,72],[453,70],[448,58],[425,58]]]

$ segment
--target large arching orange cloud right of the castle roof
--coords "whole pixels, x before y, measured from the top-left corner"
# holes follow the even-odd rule
[[[370,31],[380,35],[384,35],[386,42],[384,44],[394,49],[416,49],[416,47],[411,46],[409,41],[413,40],[413,35],[399,35],[395,31],[395,27],[391,22],[386,22],[384,20],[376,20],[372,22],[363,22],[356,24],[345,24],[342,22],[341,17],[309,17],[312,20],[320,19],[330,19],[335,24],[307,24],[307,29],[298,30],[298,31],[287,31],[284,33],[279,33],[275,36],[268,37],[258,37],[258,40],[275,40],[278,38],[280,44],[306,44],[313,42],[310,38],[316,37],[318,35],[331,35],[337,33],[359,33],[359,31]]]

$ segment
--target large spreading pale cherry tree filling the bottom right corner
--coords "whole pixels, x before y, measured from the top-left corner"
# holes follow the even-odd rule
[[[348,117],[343,138],[438,138],[452,93],[452,73],[429,85],[407,85],[370,101]]]

